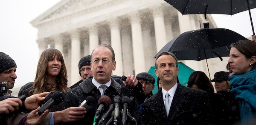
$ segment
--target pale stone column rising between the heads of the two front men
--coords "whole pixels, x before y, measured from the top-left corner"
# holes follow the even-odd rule
[[[141,30],[140,13],[130,14],[131,18],[131,33],[132,33],[132,46],[134,55],[134,73],[135,75],[140,72],[145,72],[145,59],[143,50],[143,38]]]

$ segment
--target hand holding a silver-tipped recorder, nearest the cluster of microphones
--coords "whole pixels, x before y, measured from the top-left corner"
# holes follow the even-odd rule
[[[84,107],[70,107],[62,111],[54,112],[54,124],[58,122],[73,122],[84,118],[86,114]]]

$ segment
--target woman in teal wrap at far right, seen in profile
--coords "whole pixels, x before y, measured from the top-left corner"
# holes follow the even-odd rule
[[[256,121],[256,42],[241,40],[231,44],[231,93],[239,100],[241,124]]]

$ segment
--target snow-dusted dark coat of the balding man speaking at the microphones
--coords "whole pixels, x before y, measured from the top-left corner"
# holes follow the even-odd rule
[[[87,77],[81,84],[76,87],[72,88],[71,90],[67,91],[64,97],[64,106],[65,108],[72,107],[72,106],[79,106],[81,102],[83,102],[86,97],[92,96],[96,99],[96,102],[93,103],[92,107],[88,109],[87,113],[84,114],[84,119],[76,121],[76,125],[83,125],[86,123],[87,125],[93,124],[93,119],[96,113],[96,104],[101,97],[101,93],[99,89],[96,88],[95,85],[92,83],[93,77]],[[113,98],[116,95],[119,95],[121,98],[124,96],[128,96],[130,98],[134,98],[133,93],[126,87],[117,83],[113,78],[111,79],[111,86],[109,86],[106,90],[104,95],[107,95],[111,98],[112,103],[114,103]],[[120,104],[120,111],[122,110],[122,104]],[[140,120],[139,115],[139,105],[136,98],[133,99],[131,105],[128,106],[128,112],[133,116],[137,121]],[[70,124],[70,123],[69,123]]]

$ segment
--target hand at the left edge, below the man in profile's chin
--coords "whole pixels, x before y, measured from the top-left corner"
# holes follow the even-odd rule
[[[0,114],[9,114],[22,106],[22,102],[18,98],[8,98],[0,101]]]

